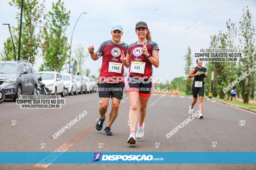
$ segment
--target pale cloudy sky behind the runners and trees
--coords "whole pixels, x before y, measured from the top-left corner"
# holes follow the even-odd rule
[[[153,66],[153,76],[162,76],[163,82],[170,82],[175,77],[184,75],[184,55],[187,53],[188,46],[191,52],[196,52],[199,48],[208,48],[210,45],[210,35],[218,34],[219,30],[226,31],[226,21],[230,18],[239,30],[239,21],[244,6],[248,6],[252,12],[252,22],[256,25],[256,1],[79,1],[63,0],[66,10],[70,10],[70,25],[65,32],[68,42],[71,36],[69,30],[74,27],[77,18],[82,12],[79,19],[73,39],[72,53],[78,44],[85,48],[88,53],[88,46],[94,45],[95,50],[99,45],[111,39],[111,27],[114,23],[120,23],[123,27],[124,34],[121,41],[131,44],[138,41],[135,34],[135,24],[138,21],[145,21],[149,30],[152,32],[152,41],[159,46],[158,68]],[[40,1],[42,2],[42,1]],[[51,10],[51,3],[56,0],[46,0],[46,10]],[[216,11],[212,12],[212,7]],[[157,12],[153,12],[158,8]],[[0,1],[1,23],[10,23],[17,25],[15,19],[17,8],[8,5],[8,0]],[[186,30],[191,24],[200,18],[203,22],[193,31],[175,43],[169,45],[176,36]],[[131,30],[130,35],[125,35],[126,30]],[[3,49],[3,41],[10,36],[8,26],[0,25],[0,51]],[[237,39],[238,44],[238,39]],[[40,54],[38,54],[39,56]],[[195,64],[193,58],[193,65]],[[34,65],[37,71],[42,58],[38,58]],[[93,61],[90,56],[85,61],[85,68],[89,68],[91,73],[95,74],[101,67],[102,59]],[[205,63],[203,64],[203,66]],[[128,70],[125,68],[125,72]],[[62,71],[63,73],[66,70]]]

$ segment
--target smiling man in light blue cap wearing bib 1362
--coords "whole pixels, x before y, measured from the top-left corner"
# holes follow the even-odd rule
[[[113,135],[110,130],[119,109],[119,104],[123,98],[124,88],[124,66],[120,60],[120,54],[126,55],[128,45],[121,41],[123,29],[120,24],[114,24],[111,30],[112,40],[103,42],[96,53],[93,45],[88,47],[88,51],[93,60],[102,57],[102,66],[99,75],[98,89],[99,98],[103,98],[99,106],[99,120],[95,125],[97,130],[101,130],[106,119],[106,111],[109,106],[109,98],[112,98],[109,121],[104,129],[105,135]]]

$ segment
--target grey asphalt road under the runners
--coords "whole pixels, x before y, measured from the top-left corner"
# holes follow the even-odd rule
[[[148,105],[160,94],[152,95]],[[0,104],[0,151],[256,151],[256,114],[204,100],[204,119],[194,119],[171,138],[166,134],[189,117],[189,97],[166,95],[147,109],[144,137],[129,145],[129,98],[124,96],[118,117],[111,127],[113,136],[95,130],[99,117],[98,94],[66,96],[61,109],[20,109],[12,100]],[[111,102],[111,101],[110,101]],[[198,110],[198,103],[194,107]],[[111,105],[107,111],[107,119]],[[87,115],[58,138],[53,134],[83,111]],[[15,125],[12,120],[16,120]],[[239,120],[246,120],[239,126]],[[106,126],[106,122],[104,123]],[[104,127],[105,127],[104,126]],[[155,143],[160,143],[155,148]],[[217,142],[212,147],[212,142]],[[45,143],[45,148],[41,148]],[[103,143],[102,148],[99,143]],[[191,158],[200,159],[200,158]],[[256,164],[0,164],[0,169],[256,169]]]

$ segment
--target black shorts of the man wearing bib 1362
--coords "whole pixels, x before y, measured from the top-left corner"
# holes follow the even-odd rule
[[[98,83],[99,97],[123,98],[125,83]]]

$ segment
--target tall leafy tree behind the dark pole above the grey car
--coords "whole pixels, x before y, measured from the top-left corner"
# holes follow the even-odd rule
[[[41,42],[40,34],[42,32],[42,16],[44,16],[44,3],[39,4],[38,0],[24,0],[23,3],[23,19],[22,19],[22,34],[21,34],[21,50],[20,59],[35,63],[35,57],[38,54],[38,48]],[[12,0],[10,6],[21,8],[21,0]],[[19,32],[20,13],[17,12],[17,27],[12,27],[14,32]],[[13,41],[18,54],[18,34],[13,35]],[[9,37],[4,43],[2,59],[14,59],[13,45],[8,46]],[[12,49],[10,49],[12,47]],[[6,53],[7,52],[7,53]],[[8,53],[9,52],[9,53]],[[6,56],[8,55],[8,56]]]

